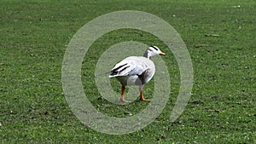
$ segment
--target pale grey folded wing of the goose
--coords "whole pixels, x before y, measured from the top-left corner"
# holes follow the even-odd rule
[[[137,56],[131,56],[117,63],[111,70],[109,78],[141,75],[148,68],[149,67],[145,61],[141,60]]]

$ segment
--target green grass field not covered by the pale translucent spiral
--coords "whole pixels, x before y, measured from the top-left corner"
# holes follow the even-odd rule
[[[256,143],[255,8],[253,0],[2,0],[0,143]],[[195,82],[185,111],[171,123],[180,83],[177,62],[166,51],[170,56],[163,60],[169,64],[172,92],[164,111],[143,130],[107,135],[73,115],[62,92],[61,65],[67,44],[81,26],[102,14],[128,9],[155,14],[177,30],[189,49]],[[112,44],[127,40],[166,49],[147,33],[110,32],[94,43],[92,47],[101,49],[90,49],[82,68],[91,103],[117,117],[148,105],[135,101],[115,106],[99,99],[95,90],[97,59]],[[150,97],[152,86],[145,86],[145,95]]]

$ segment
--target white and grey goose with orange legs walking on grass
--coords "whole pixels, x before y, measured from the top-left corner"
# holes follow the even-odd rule
[[[150,60],[151,56],[154,55],[165,55],[165,53],[161,52],[156,46],[150,46],[143,56],[127,57],[113,67],[109,78],[117,78],[122,84],[121,101],[128,102],[125,101],[124,98],[126,85],[138,85],[140,90],[140,100],[149,101],[143,97],[143,86],[154,76],[155,66],[154,62]]]

